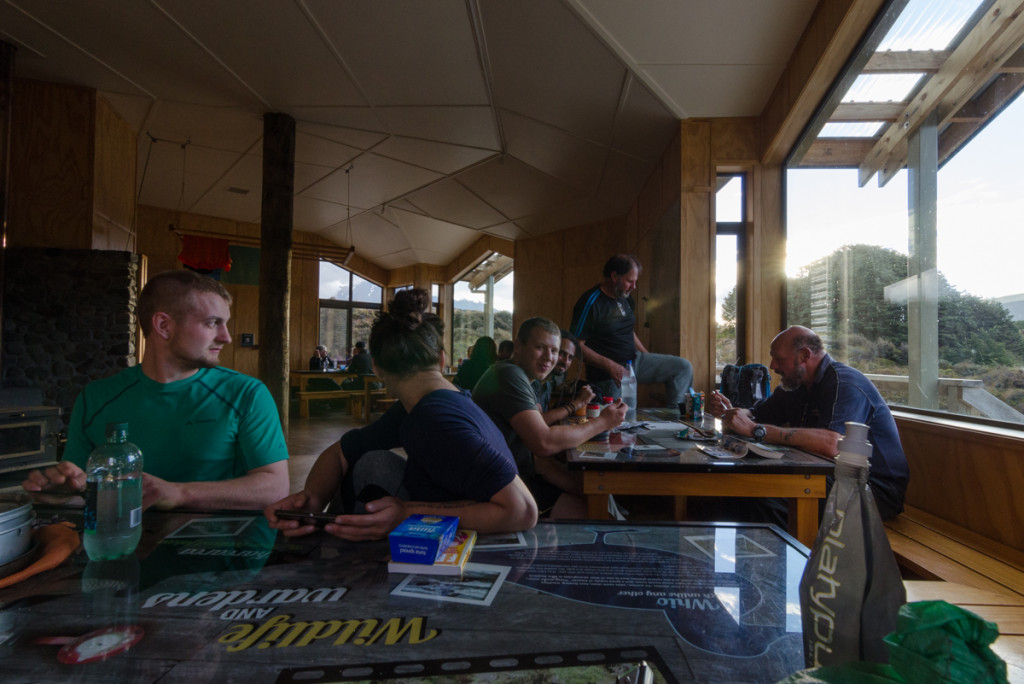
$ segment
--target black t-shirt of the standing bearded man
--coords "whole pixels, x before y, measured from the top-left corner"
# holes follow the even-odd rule
[[[636,358],[637,347],[633,338],[636,325],[635,305],[632,297],[609,297],[597,285],[581,295],[572,307],[569,332],[587,346],[611,360],[626,366]],[[607,380],[601,369],[587,366],[587,379],[595,382]]]

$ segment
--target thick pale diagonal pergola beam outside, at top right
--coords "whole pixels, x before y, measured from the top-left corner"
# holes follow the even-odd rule
[[[939,128],[992,78],[1024,43],[1024,0],[995,0],[985,16],[928,80],[871,148],[858,170],[861,186],[876,174],[885,184],[906,164],[908,136],[938,112]]]

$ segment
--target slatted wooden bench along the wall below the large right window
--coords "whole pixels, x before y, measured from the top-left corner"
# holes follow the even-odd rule
[[[886,532],[900,567],[922,580],[1024,596],[1024,552],[909,506]]]

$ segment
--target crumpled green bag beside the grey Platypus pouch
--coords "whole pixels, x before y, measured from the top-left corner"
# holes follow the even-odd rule
[[[989,648],[998,628],[946,601],[918,601],[899,610],[885,638],[889,661],[909,684],[1007,681],[1007,664]]]

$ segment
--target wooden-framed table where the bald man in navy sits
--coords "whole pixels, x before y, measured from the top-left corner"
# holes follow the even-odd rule
[[[678,421],[678,415],[650,410],[641,411],[641,418],[655,426]],[[814,544],[818,504],[825,497],[825,478],[835,468],[831,459],[796,448],[778,459],[717,459],[699,448],[712,442],[679,438],[684,427],[680,423],[636,434],[616,432],[607,441],[589,442],[567,453],[568,469],[582,472],[589,517],[609,517],[608,497],[613,495],[675,497],[678,520],[685,517],[685,497],[781,498],[790,504],[790,532],[807,547]],[[692,434],[692,426],[689,429]],[[701,429],[714,432],[714,419],[709,417]],[[651,446],[662,448],[648,451]]]

